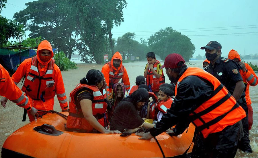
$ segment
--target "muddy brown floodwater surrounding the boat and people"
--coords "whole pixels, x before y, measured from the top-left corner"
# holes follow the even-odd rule
[[[251,61],[258,63],[257,61]],[[161,62],[162,63],[162,62]],[[202,68],[202,60],[189,61],[186,62],[190,67],[199,67]],[[163,64],[163,63],[162,63]],[[146,61],[142,62],[133,62],[133,63],[124,63],[126,70],[128,72],[128,76],[130,79],[130,84],[135,84],[135,79],[138,75],[143,75],[144,67],[146,65]],[[79,69],[76,70],[68,70],[62,71],[62,77],[64,80],[64,87],[66,91],[67,98],[69,99],[69,93],[73,90],[73,88],[79,83],[81,78],[85,77],[87,72],[91,69],[101,70],[103,65],[96,65],[93,67],[93,64],[78,64]],[[164,69],[165,70],[165,69]],[[165,74],[165,72],[164,72]],[[169,79],[166,76],[166,83],[169,83]],[[17,86],[21,88],[21,84],[19,83]],[[236,157],[258,157],[258,86],[252,87],[250,86],[250,96],[252,99],[252,107],[253,107],[253,127],[249,131],[249,138],[251,140],[251,147],[253,149],[253,153],[248,154],[242,151],[238,151],[236,153]],[[2,97],[0,96],[0,99]],[[60,105],[58,103],[57,97],[55,97],[54,110],[61,111]],[[7,102],[7,107],[0,107],[0,150],[3,146],[6,138],[13,133],[15,130],[29,123],[28,116],[26,122],[22,122],[23,116],[23,108],[18,107],[16,104],[11,101]],[[1,153],[0,153],[1,155]]]

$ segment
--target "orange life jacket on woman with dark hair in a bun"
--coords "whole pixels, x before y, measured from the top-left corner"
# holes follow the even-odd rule
[[[93,91],[93,101],[91,104],[92,114],[96,117],[98,122],[105,127],[105,112],[107,110],[106,91],[102,89],[102,93],[97,86],[89,86],[87,84],[78,84],[75,89],[70,93],[69,99],[69,115],[67,118],[67,128],[82,129],[86,132],[92,132],[93,127],[85,119],[81,106],[75,103],[77,99],[76,92],[82,88],[89,88]],[[103,94],[103,95],[102,95]]]

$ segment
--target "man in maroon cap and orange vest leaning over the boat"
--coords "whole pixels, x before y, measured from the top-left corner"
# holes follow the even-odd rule
[[[161,121],[148,133],[136,133],[150,139],[176,125],[171,136],[181,134],[192,122],[196,136],[192,149],[195,157],[234,157],[239,141],[244,109],[212,74],[200,68],[187,68],[183,57],[169,54],[164,67],[171,82],[176,83],[175,99]]]

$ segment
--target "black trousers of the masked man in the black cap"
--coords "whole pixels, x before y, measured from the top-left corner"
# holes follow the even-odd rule
[[[239,142],[239,149],[244,152],[252,153],[248,130],[248,108],[246,105],[245,98],[239,99],[237,103],[239,103],[239,105],[245,110],[246,113],[246,117],[242,119],[244,136],[241,138]]]

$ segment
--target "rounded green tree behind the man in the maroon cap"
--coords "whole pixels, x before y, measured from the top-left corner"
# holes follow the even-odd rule
[[[170,53],[178,53],[183,56],[185,61],[189,61],[195,52],[195,46],[189,37],[181,34],[171,27],[161,29],[148,38],[150,50],[157,53],[161,59]]]

